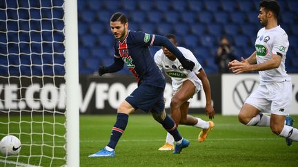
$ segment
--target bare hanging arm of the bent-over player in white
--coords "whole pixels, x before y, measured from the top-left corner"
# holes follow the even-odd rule
[[[199,70],[199,73],[196,75],[201,80],[201,82],[203,84],[203,90],[204,90],[205,96],[206,96],[206,107],[205,107],[206,115],[208,115],[208,117],[210,119],[212,119],[212,118],[214,118],[215,110],[212,107],[211,88],[210,88],[210,83],[209,83],[208,77],[207,77],[205,71],[203,70],[203,68],[201,68]]]

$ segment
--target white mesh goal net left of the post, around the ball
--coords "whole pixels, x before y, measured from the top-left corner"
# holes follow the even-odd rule
[[[14,135],[21,140],[19,155],[0,155],[0,166],[63,166],[73,156],[68,142],[79,137],[77,133],[69,140],[68,126],[77,118],[68,118],[68,112],[79,111],[70,111],[67,103],[72,70],[66,66],[72,63],[69,67],[77,70],[76,60],[68,59],[69,51],[74,50],[74,58],[77,54],[77,38],[66,37],[70,3],[75,5],[68,11],[77,12],[77,1],[0,1],[0,138]],[[66,38],[74,42],[71,48]],[[70,76],[77,86],[77,74]]]

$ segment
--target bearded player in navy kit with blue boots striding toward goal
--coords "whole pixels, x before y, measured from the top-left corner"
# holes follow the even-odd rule
[[[164,36],[128,30],[128,18],[123,13],[112,14],[110,28],[115,36],[114,63],[109,67],[99,67],[99,75],[119,71],[125,63],[137,78],[138,87],[118,107],[117,120],[108,145],[89,157],[115,157],[115,147],[126,129],[128,115],[136,109],[152,113],[153,118],[174,137],[176,144],[173,153],[179,154],[190,142],[181,137],[175,122],[166,114],[163,101],[166,81],[151,56],[149,46],[166,47],[177,56],[184,69],[192,71],[195,63],[186,59]]]

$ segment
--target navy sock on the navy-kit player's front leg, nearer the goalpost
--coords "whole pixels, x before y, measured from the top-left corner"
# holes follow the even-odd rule
[[[128,115],[125,113],[117,113],[117,120],[112,128],[112,133],[110,136],[110,142],[107,146],[115,149],[122,133],[126,129],[126,125],[128,124]]]

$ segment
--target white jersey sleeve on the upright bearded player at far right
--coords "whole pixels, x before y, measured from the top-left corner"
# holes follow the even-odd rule
[[[286,33],[282,34],[281,36],[276,36],[272,46],[272,54],[286,56],[288,45],[288,35]]]

